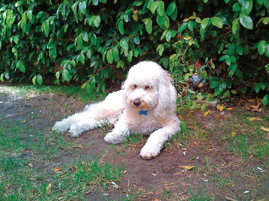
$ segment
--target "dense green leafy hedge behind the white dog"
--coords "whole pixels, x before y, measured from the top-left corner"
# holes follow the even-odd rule
[[[76,80],[92,93],[152,60],[182,92],[200,58],[214,96],[253,90],[268,104],[269,0],[0,2],[1,81]]]

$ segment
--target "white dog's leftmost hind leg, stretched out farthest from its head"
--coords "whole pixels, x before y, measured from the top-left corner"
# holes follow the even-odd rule
[[[80,112],[74,115],[71,115],[62,121],[56,122],[56,124],[53,126],[52,130],[57,131],[60,133],[64,133],[69,130],[71,125],[73,125],[76,122],[79,122],[89,116],[89,111]]]

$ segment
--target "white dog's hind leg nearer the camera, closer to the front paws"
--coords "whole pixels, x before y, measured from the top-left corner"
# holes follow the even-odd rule
[[[84,119],[71,125],[68,135],[70,137],[78,137],[85,131],[95,129],[102,126],[106,121],[95,119]]]

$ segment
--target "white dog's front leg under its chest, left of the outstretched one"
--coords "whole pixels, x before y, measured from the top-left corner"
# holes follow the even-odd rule
[[[119,144],[128,135],[130,135],[130,131],[127,124],[123,120],[119,120],[115,124],[115,128],[104,137],[104,140],[107,143]]]

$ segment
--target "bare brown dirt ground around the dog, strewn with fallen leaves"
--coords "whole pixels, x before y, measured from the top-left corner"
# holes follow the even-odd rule
[[[56,120],[83,110],[85,106],[75,98],[55,94],[22,97],[6,94],[0,97],[0,101],[1,124],[26,121],[44,132],[50,132],[49,129]],[[95,158],[104,154],[104,161],[123,166],[125,172],[122,183],[118,184],[120,188],[106,191],[109,200],[125,197],[130,189],[137,192],[139,200],[188,200],[191,198],[191,192],[195,195],[202,192],[216,201],[225,200],[225,197],[227,200],[230,198],[240,201],[269,199],[268,164],[253,157],[243,160],[230,152],[228,142],[220,139],[223,132],[226,132],[225,128],[220,129],[223,123],[223,119],[218,119],[220,112],[212,111],[206,118],[201,111],[195,111],[187,117],[190,131],[192,125],[196,123],[200,129],[206,131],[204,137],[196,139],[190,137],[187,143],[171,142],[157,158],[151,160],[139,157],[139,150],[146,137],[136,144],[110,145],[103,140],[106,130],[95,129],[85,132],[78,138],[64,135],[64,140],[74,140],[81,144],[82,148],[74,147],[72,152],[60,150],[54,163],[64,165],[69,164],[77,156]],[[265,109],[259,114],[249,113],[266,117],[268,110]],[[233,121],[231,117],[241,114],[240,108],[222,113],[228,122]],[[36,117],[29,120],[29,115]],[[35,165],[42,168],[43,164],[40,162]],[[190,165],[196,168],[184,171],[178,167]],[[253,170],[257,170],[257,167],[263,168],[263,172],[257,171],[255,174]],[[218,177],[213,179],[214,175]],[[228,184],[221,187],[216,178],[227,178]],[[219,183],[221,184],[221,181]],[[86,196],[86,199],[102,200],[102,196],[99,191],[93,191]]]

